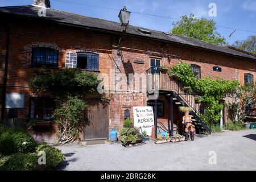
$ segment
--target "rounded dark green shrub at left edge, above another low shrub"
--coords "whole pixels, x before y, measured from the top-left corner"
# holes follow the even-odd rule
[[[35,152],[36,142],[21,128],[11,128],[4,131],[0,137],[0,154]]]

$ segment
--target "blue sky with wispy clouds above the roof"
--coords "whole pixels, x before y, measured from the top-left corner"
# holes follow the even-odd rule
[[[53,9],[118,22],[119,12],[117,10],[100,9],[60,1],[102,6],[111,9],[121,9],[126,5],[129,11],[168,16],[176,19],[179,19],[181,15],[193,13],[198,18],[203,16],[207,19],[213,19],[218,26],[254,31],[246,32],[237,30],[233,36],[229,38],[229,34],[233,31],[232,29],[217,27],[217,31],[220,32],[230,44],[235,40],[245,40],[247,36],[256,35],[256,0],[51,0]],[[33,0],[0,0],[0,6],[31,5],[32,2]],[[210,10],[208,7],[209,3],[216,3],[216,17],[210,17],[208,14]],[[169,31],[173,21],[175,20],[136,13],[131,13],[130,18],[130,24],[132,25],[160,31]]]

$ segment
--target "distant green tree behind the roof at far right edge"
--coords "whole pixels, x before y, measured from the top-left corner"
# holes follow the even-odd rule
[[[256,36],[249,36],[246,40],[237,40],[232,46],[256,54]]]

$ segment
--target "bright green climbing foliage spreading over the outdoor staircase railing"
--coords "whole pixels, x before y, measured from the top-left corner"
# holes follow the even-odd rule
[[[205,106],[205,113],[200,117],[208,125],[210,121],[217,123],[220,120],[220,111],[224,107],[220,100],[225,94],[233,92],[239,84],[238,81],[228,81],[220,78],[205,77],[196,79],[193,76],[191,65],[182,61],[174,65],[174,68],[170,71],[170,76],[178,78],[185,86],[199,95],[196,99]]]

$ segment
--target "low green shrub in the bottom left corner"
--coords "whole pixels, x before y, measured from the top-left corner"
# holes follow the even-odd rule
[[[0,158],[0,171],[30,171],[35,168],[35,154],[16,153]]]

